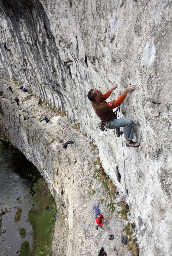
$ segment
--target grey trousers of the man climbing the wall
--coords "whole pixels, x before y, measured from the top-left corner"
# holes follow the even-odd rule
[[[112,119],[109,124],[107,125],[108,129],[114,129],[117,132],[117,136],[120,134],[120,127],[123,127],[124,137],[126,140],[132,140],[133,137],[133,129],[132,129],[132,122],[130,118],[114,118]]]

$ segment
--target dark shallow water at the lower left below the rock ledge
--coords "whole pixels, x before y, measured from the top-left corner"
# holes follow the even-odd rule
[[[32,207],[32,195],[28,191],[34,177],[35,167],[11,144],[0,148],[0,255],[11,256],[20,249],[24,241],[32,245],[32,226],[28,213]],[[17,209],[21,218],[14,222]],[[25,228],[21,238],[19,229]]]

